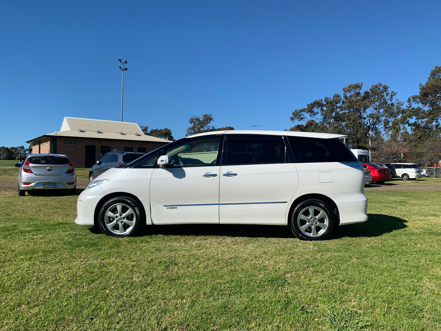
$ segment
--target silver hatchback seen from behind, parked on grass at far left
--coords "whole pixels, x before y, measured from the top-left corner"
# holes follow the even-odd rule
[[[26,192],[67,189],[76,192],[75,168],[64,154],[31,154],[23,163],[16,163],[19,171],[19,196]]]

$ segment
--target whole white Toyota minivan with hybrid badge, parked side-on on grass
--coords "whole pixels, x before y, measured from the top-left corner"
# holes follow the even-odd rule
[[[365,222],[364,170],[339,138],[218,131],[179,139],[90,182],[77,224],[115,237],[145,225],[288,225],[304,240]]]

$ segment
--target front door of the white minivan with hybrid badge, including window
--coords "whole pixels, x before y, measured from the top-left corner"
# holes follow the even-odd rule
[[[168,166],[153,169],[150,181],[154,224],[219,223],[221,138],[188,138],[166,151]]]

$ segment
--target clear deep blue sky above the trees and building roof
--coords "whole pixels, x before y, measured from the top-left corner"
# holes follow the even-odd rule
[[[284,130],[350,84],[400,100],[441,65],[440,1],[12,1],[0,12],[0,146],[65,116]],[[26,146],[27,147],[27,146]]]

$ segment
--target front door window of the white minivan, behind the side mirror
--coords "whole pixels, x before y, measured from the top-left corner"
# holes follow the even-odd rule
[[[184,139],[167,149],[168,165],[174,167],[216,164],[221,135]]]

